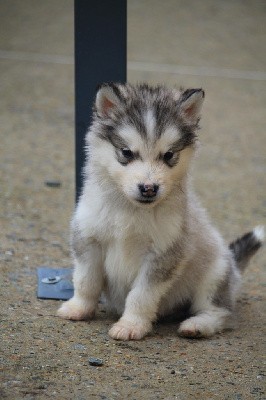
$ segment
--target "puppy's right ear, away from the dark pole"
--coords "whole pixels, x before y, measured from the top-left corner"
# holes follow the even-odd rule
[[[202,89],[187,89],[180,96],[180,110],[187,122],[195,124],[200,118],[205,93]]]

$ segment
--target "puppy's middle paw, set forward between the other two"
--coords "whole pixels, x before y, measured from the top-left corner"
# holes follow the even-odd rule
[[[116,340],[140,340],[151,330],[149,323],[132,323],[120,319],[109,330],[109,335]]]

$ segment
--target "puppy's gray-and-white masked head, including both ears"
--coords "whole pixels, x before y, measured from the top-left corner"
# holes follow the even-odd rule
[[[88,133],[90,162],[139,206],[165,199],[188,171],[202,89],[104,84]]]

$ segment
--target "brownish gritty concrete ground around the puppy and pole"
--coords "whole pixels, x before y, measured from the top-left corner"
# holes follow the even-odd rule
[[[265,17],[263,0],[128,2],[128,80],[206,90],[195,185],[228,241],[265,224]],[[236,328],[209,340],[164,323],[120,343],[104,312],[67,322],[36,298],[37,266],[71,266],[73,68],[71,0],[0,2],[0,397],[265,399],[265,250]]]

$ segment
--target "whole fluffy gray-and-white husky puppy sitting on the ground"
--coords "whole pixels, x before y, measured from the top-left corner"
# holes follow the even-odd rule
[[[103,84],[86,137],[85,181],[72,221],[74,297],[62,318],[95,315],[101,293],[121,318],[109,335],[141,339],[189,305],[186,337],[226,327],[257,227],[227,246],[191,187],[202,89]]]

